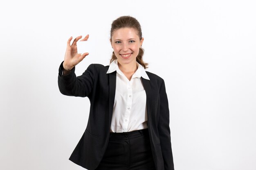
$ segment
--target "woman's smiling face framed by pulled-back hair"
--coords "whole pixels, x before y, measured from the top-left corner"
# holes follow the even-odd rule
[[[119,28],[115,30],[110,39],[115,56],[119,64],[136,64],[136,57],[144,38],[139,39],[134,28]]]

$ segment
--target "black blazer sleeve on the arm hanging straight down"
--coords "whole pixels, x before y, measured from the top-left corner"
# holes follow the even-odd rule
[[[159,112],[159,122],[158,122],[158,133],[160,144],[162,148],[162,155],[164,159],[164,169],[174,170],[173,165],[173,153],[171,148],[171,132],[170,132],[170,114],[168,107],[168,99],[165,89],[164,80],[159,90],[160,96],[160,112]]]

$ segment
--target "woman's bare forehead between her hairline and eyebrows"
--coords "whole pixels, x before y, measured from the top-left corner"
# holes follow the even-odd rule
[[[131,39],[139,38],[138,31],[135,28],[119,28],[112,33],[112,39]]]

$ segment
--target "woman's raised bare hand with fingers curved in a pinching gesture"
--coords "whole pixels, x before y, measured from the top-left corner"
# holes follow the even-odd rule
[[[72,40],[72,37],[70,37],[67,40],[67,50],[65,52],[64,62],[63,62],[63,71],[69,72],[76,66],[78,63],[80,63],[87,55],[89,55],[88,52],[85,52],[83,54],[77,53],[77,47],[76,42],[81,39],[82,36],[76,37],[70,46],[70,42]],[[84,39],[81,39],[80,41],[87,41],[89,38],[89,35],[86,35]]]

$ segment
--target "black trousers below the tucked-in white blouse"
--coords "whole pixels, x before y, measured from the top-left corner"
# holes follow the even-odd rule
[[[148,129],[110,133],[108,147],[96,170],[155,170]]]

